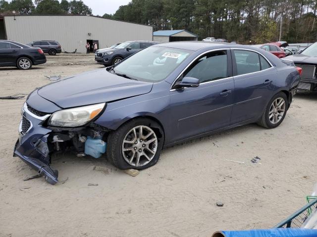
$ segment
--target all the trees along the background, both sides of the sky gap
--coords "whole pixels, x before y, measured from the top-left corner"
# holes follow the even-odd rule
[[[105,2],[106,4],[106,2]],[[82,0],[0,0],[0,12],[92,14]],[[317,41],[317,0],[131,0],[104,18],[157,30],[184,29],[199,36],[238,43]]]

